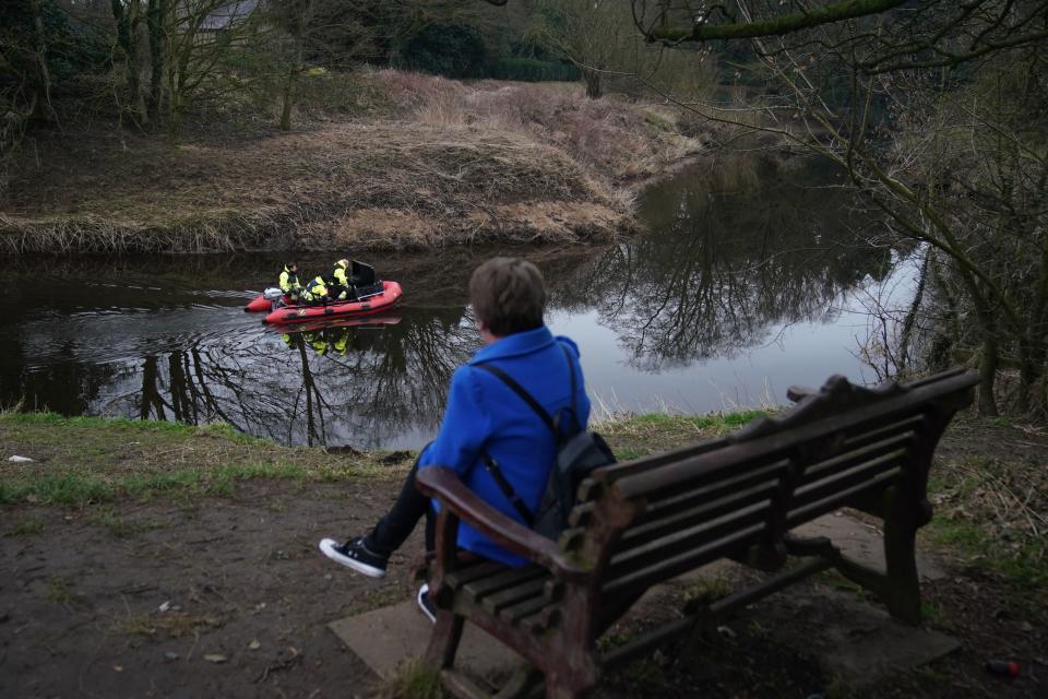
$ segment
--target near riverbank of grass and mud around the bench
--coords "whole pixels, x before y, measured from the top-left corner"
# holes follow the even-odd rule
[[[647,415],[599,430],[632,458],[724,434],[755,414]],[[821,674],[803,651],[808,639],[781,642],[793,621],[773,597],[761,606],[760,625],[734,623],[738,637],[707,649],[712,664],[678,663],[666,649],[614,673],[602,696],[1038,694],[1048,623],[1037,535],[1046,452],[1041,430],[967,419],[940,447],[936,520],[921,550],[945,574],[927,581],[924,594],[927,626],[957,638],[956,653],[864,695]],[[11,454],[35,461],[12,463]],[[413,454],[290,449],[221,425],[9,412],[0,414],[0,455],[8,572],[0,695],[326,697],[346,686],[372,694],[368,670],[325,624],[409,597],[420,536],[393,558],[381,583],[334,567],[315,543],[370,525],[395,497]],[[729,574],[711,590],[730,584]],[[790,590],[790,599],[843,592],[878,605],[830,576]],[[987,674],[988,657],[1017,660],[1020,677]],[[767,692],[754,695],[760,688]]]

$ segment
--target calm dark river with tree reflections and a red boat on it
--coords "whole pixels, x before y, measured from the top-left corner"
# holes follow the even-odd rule
[[[440,423],[451,371],[479,345],[465,288],[492,254],[541,268],[548,324],[579,343],[598,411],[782,404],[791,384],[871,378],[857,358],[864,299],[898,283],[898,254],[876,244],[832,171],[705,164],[648,188],[639,206],[647,233],[615,245],[370,254],[404,287],[402,305],[306,332],[242,310],[275,282],[278,254],[7,259],[0,405],[418,447]],[[301,256],[299,268],[334,257]]]

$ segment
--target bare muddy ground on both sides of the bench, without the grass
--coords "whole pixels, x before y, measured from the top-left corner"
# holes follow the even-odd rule
[[[988,442],[997,457],[986,457]],[[1046,446],[1039,433],[961,426],[938,469],[952,472],[981,450],[980,458],[1019,459],[1043,472]],[[420,542],[394,558],[381,582],[331,564],[317,542],[362,531],[396,487],[389,478],[260,478],[222,498],[130,498],[109,509],[3,506],[0,697],[373,696],[376,677],[325,625],[410,595],[409,558]],[[943,502],[940,511],[948,510]],[[751,607],[729,624],[731,637],[691,651],[670,645],[618,668],[595,695],[1048,695],[1044,589],[995,571],[970,549],[926,540],[922,549],[946,572],[924,587],[927,626],[958,639],[961,649],[924,668],[865,688],[823,671],[809,652],[821,630],[812,609],[833,608],[842,596],[879,605],[823,576]],[[626,638],[693,594],[693,584],[669,585],[615,633]],[[988,674],[990,657],[1015,660],[1020,676]]]

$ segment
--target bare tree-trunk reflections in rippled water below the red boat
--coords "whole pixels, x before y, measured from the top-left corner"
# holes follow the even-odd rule
[[[350,327],[265,331],[269,342],[146,356],[141,391],[106,412],[200,423],[222,419],[286,443],[390,443],[440,422],[451,372],[477,345],[464,308]],[[278,339],[278,343],[272,342]]]

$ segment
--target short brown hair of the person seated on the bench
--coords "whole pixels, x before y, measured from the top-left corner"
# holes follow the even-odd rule
[[[469,303],[493,335],[543,325],[546,283],[538,268],[520,258],[492,258],[469,277]]]

